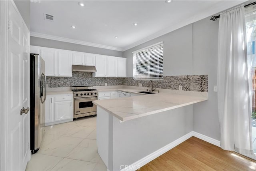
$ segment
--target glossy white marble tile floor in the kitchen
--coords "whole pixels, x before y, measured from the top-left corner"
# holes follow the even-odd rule
[[[46,127],[26,171],[106,171],[97,153],[96,117]]]

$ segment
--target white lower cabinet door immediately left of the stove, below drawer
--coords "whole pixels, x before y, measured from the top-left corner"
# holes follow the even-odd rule
[[[55,102],[55,121],[72,119],[71,105],[71,101]]]

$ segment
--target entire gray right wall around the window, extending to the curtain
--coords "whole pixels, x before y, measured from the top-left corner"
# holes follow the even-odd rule
[[[217,85],[218,22],[210,17],[150,40],[123,52],[127,77],[132,77],[132,52],[164,41],[164,76],[208,74],[208,101],[194,104],[193,130],[220,140]]]

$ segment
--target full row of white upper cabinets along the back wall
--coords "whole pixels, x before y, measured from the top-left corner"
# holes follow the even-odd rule
[[[45,75],[72,77],[72,65],[95,66],[94,77],[126,77],[126,58],[30,46],[30,53],[42,56]]]

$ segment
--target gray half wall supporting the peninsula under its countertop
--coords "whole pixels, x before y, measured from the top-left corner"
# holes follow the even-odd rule
[[[118,171],[120,165],[131,165],[190,133],[193,130],[192,111],[193,105],[187,105],[123,123],[109,114],[109,152],[112,152],[112,158],[109,155],[108,169]]]

